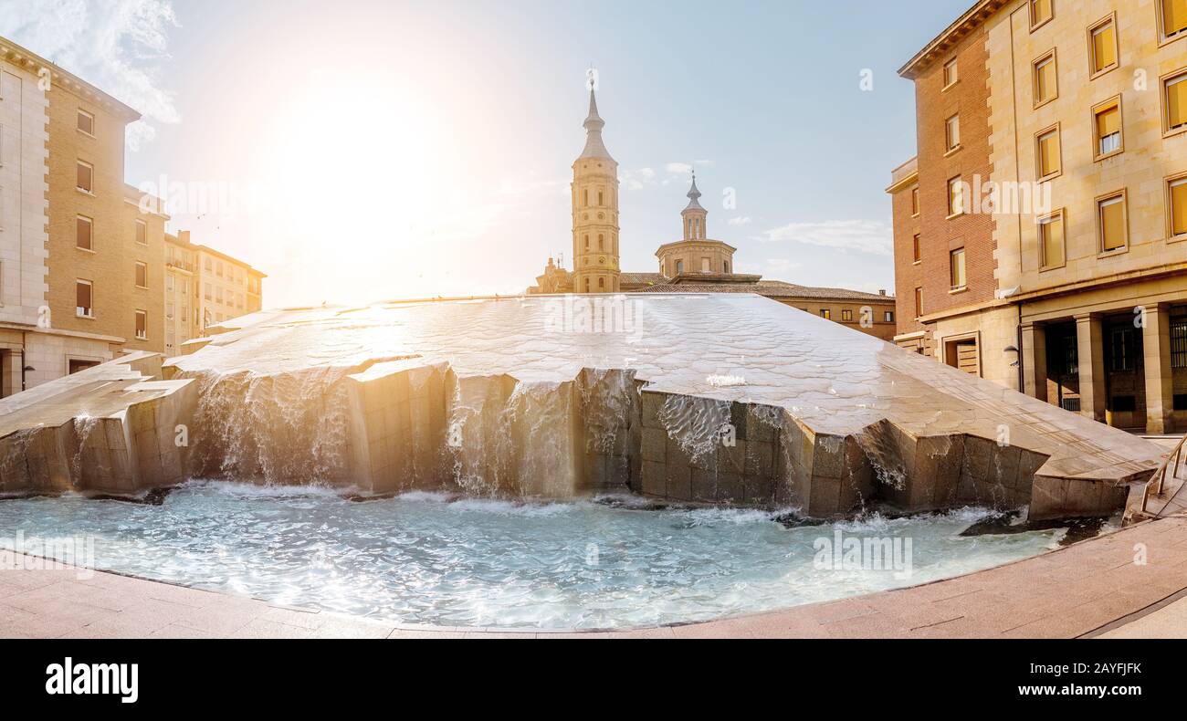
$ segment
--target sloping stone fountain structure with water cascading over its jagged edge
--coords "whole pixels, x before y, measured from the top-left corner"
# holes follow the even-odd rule
[[[189,478],[1099,516],[1156,446],[757,295],[260,312],[0,401],[0,492]]]

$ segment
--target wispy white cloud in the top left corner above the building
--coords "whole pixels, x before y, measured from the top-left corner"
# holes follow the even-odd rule
[[[182,120],[159,79],[176,26],[171,0],[0,0],[0,34],[144,115],[128,127],[129,151]]]

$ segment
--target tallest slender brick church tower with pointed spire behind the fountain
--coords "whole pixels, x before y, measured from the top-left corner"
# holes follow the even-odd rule
[[[585,149],[573,162],[573,292],[618,293],[618,164],[602,142],[592,83],[584,125]]]

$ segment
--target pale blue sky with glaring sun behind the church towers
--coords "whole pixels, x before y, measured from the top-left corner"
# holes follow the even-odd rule
[[[127,181],[267,306],[514,294],[569,259],[591,65],[623,270],[658,270],[696,170],[738,273],[876,292],[915,153],[896,71],[970,5],[0,0],[0,36],[142,113]]]

